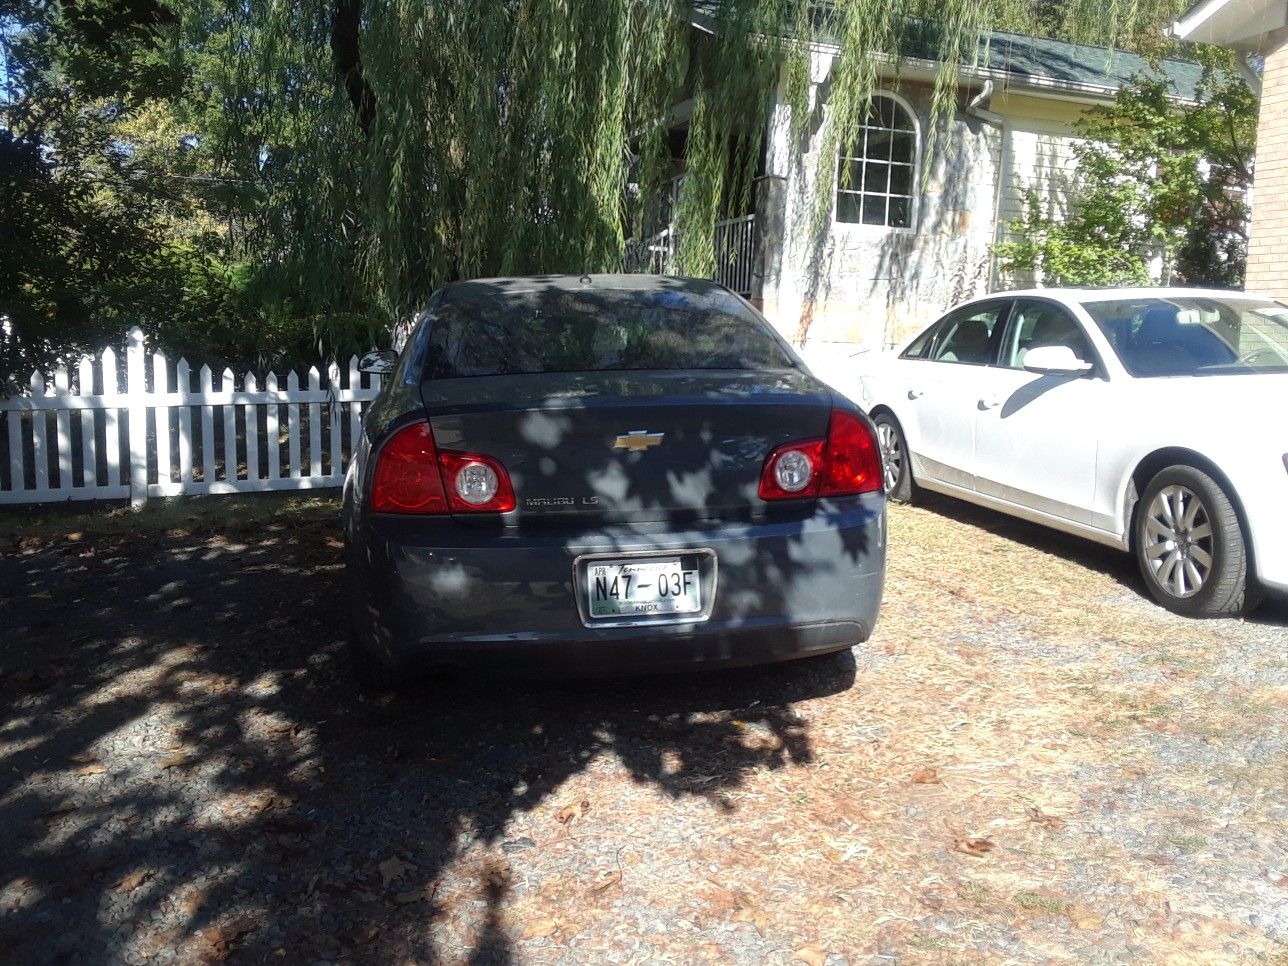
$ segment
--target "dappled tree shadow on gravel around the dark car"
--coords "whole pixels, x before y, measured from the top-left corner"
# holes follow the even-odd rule
[[[735,813],[748,773],[811,760],[792,703],[854,680],[846,652],[372,701],[343,654],[336,529],[0,558],[0,957],[505,962],[510,857],[537,845],[515,829],[574,831],[565,786],[625,769]]]

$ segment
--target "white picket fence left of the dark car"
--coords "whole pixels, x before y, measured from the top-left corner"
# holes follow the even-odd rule
[[[151,366],[148,362],[151,361]],[[143,332],[126,336],[124,371],[104,349],[68,372],[40,374],[30,392],[0,399],[0,504],[129,498],[182,493],[251,493],[337,487],[359,438],[362,412],[380,377],[327,367],[309,370],[308,386],[291,372],[260,380],[231,370],[216,376],[184,359],[173,370],[151,359]],[[151,371],[151,379],[149,379]],[[124,376],[124,379],[122,379]],[[8,465],[8,473],[4,468]]]

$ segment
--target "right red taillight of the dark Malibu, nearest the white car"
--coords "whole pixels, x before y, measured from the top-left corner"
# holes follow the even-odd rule
[[[800,484],[805,464],[810,473]],[[832,410],[827,439],[804,439],[774,450],[760,471],[761,500],[854,496],[881,489],[881,453],[867,425]]]

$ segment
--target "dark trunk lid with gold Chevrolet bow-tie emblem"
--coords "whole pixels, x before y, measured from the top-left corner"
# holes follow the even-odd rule
[[[435,443],[500,460],[511,522],[744,519],[765,456],[827,434],[832,398],[792,370],[426,380]]]

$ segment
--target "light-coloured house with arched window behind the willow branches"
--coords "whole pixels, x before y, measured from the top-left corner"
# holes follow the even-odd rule
[[[809,100],[818,117],[808,138],[793,142],[788,98],[773,99],[755,210],[717,228],[717,277],[820,372],[827,361],[900,341],[956,301],[1032,282],[1001,277],[992,246],[1007,240],[1030,192],[1048,213],[1066,204],[1075,122],[1148,68],[1136,54],[1016,33],[989,32],[979,44],[975,63],[958,68],[956,102],[936,130],[940,64],[905,52],[882,73],[862,137],[817,165],[840,48],[813,48]],[[1194,95],[1198,64],[1160,67],[1180,97]],[[685,122],[674,124],[671,142],[683,146]],[[683,149],[676,155],[683,169]],[[832,182],[820,228],[815,173]],[[666,270],[668,232],[653,238],[652,270]]]

